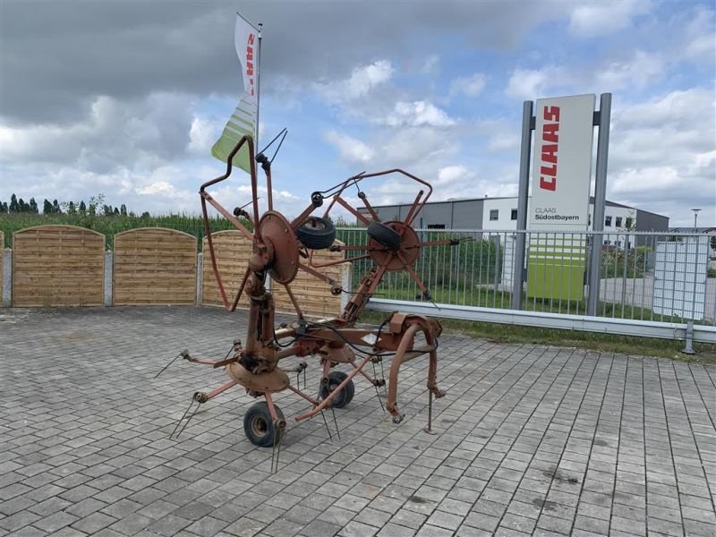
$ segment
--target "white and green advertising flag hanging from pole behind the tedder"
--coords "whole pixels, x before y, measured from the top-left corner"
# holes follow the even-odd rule
[[[234,30],[234,46],[241,64],[243,81],[243,94],[239,104],[224,127],[221,137],[211,148],[211,154],[226,162],[229,153],[234,149],[236,143],[245,134],[256,139],[256,117],[259,111],[258,103],[258,76],[259,65],[257,64],[257,53],[259,49],[259,31],[246,21],[241,15],[236,15],[236,27]],[[247,146],[234,155],[232,159],[234,166],[239,166],[246,172],[250,172],[249,150]]]

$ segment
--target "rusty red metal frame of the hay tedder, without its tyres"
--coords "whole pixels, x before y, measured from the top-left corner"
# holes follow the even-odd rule
[[[208,192],[209,187],[225,181],[231,175],[233,168],[232,158],[234,158],[234,155],[244,144],[247,146],[251,159],[252,214],[243,210],[238,212],[234,210],[234,214],[243,215],[246,218],[246,222],[251,226],[251,229],[250,226],[247,226],[242,220],[238,217],[234,217],[234,215],[222,207]],[[407,241],[405,243],[405,250],[403,250],[403,246],[401,246],[396,251],[391,251],[386,246],[377,243],[374,239],[370,239],[364,246],[336,244],[331,247],[332,251],[366,251],[366,253],[357,258],[330,261],[328,263],[316,263],[313,260],[313,251],[311,250],[308,255],[308,264],[306,265],[299,260],[301,246],[300,243],[295,243],[295,239],[293,238],[294,231],[299,226],[302,226],[307,218],[311,217],[315,209],[318,209],[322,205],[322,200],[324,199],[323,193],[314,192],[314,194],[311,195],[311,204],[303,210],[299,217],[289,221],[273,210],[270,163],[262,162],[261,167],[266,175],[269,192],[268,212],[265,213],[263,217],[260,217],[259,214],[258,181],[251,136],[244,136],[229,154],[226,164],[226,173],[219,175],[207,183],[203,183],[200,187],[201,210],[207,235],[207,246],[209,249],[211,267],[217,279],[219,294],[228,311],[235,310],[244,291],[248,295],[250,306],[248,334],[245,347],[242,347],[240,342],[234,342],[233,357],[228,358],[227,356],[224,361],[191,360],[192,362],[213,364],[214,367],[218,367],[217,364],[226,365],[226,371],[232,377],[232,380],[209,392],[209,394],[200,394],[200,392],[197,392],[197,394],[200,394],[200,397],[196,399],[195,394],[194,399],[199,403],[204,403],[210,398],[223,393],[226,389],[240,384],[243,388],[246,388],[251,396],[262,396],[266,399],[271,419],[275,425],[283,431],[283,428],[286,427],[286,423],[278,418],[276,406],[271,396],[272,393],[289,389],[311,404],[307,410],[295,416],[295,420],[300,422],[330,408],[331,402],[337,394],[345,389],[359,374],[365,379],[368,379],[369,382],[376,387],[384,385],[385,379],[373,378],[366,373],[364,369],[368,363],[375,363],[381,361],[388,355],[392,355],[386,408],[388,412],[393,415],[394,422],[400,422],[403,420],[403,414],[400,413],[397,405],[398,373],[400,367],[409,360],[428,354],[429,370],[427,388],[430,392],[430,409],[427,430],[431,430],[432,398],[433,396],[441,397],[444,395],[444,392],[437,386],[437,347],[438,337],[442,331],[439,322],[429,320],[419,315],[406,315],[404,313],[394,312],[385,320],[378,330],[354,328],[354,324],[360,317],[365,304],[371,295],[375,293],[381,278],[388,270],[405,270],[413,277],[413,280],[417,286],[420,287],[422,292],[426,296],[429,296],[427,287],[424,286],[420,277],[418,277],[412,268],[411,259],[415,259],[414,255],[411,254],[413,255],[412,258],[410,256],[406,257],[406,253],[422,247],[456,243],[455,241],[421,242],[415,239],[414,231],[412,232],[412,239],[404,239],[405,232],[408,228],[411,228],[414,218],[417,217],[425,203],[430,199],[432,193],[430,183],[403,170],[391,169],[372,174],[363,173],[354,175],[346,179],[343,183],[338,183],[336,186],[328,189],[328,191],[324,191],[324,193],[328,192],[328,196],[331,199],[328,208],[324,212],[324,217],[328,217],[330,210],[337,204],[354,214],[356,218],[366,225],[373,221],[379,222],[379,215],[375,209],[372,208],[365,193],[360,191],[360,187],[358,187],[358,196],[368,211],[368,217],[364,213],[354,209],[354,207],[345,201],[341,194],[345,192],[345,189],[349,186],[353,184],[357,186],[358,183],[371,177],[401,174],[416,183],[420,183],[427,190],[427,194],[425,194],[425,191],[421,188],[403,222],[388,222],[385,224],[386,226],[392,227],[394,231],[401,236],[401,240]],[[209,226],[207,204],[216,209],[219,214],[226,217],[244,237],[251,240],[252,253],[249,259],[249,267],[244,273],[241,286],[233,303],[229,303],[221,275],[217,268],[214,243]],[[269,215],[268,219],[267,215]],[[270,226],[268,226],[268,220],[270,220]],[[281,231],[285,233],[279,233]],[[413,241],[412,244],[410,244],[411,240]],[[376,264],[362,277],[355,291],[341,289],[336,281],[318,270],[319,268],[352,262],[355,259],[367,258],[373,259]],[[292,273],[291,265],[294,263],[294,260],[296,267]],[[289,286],[294,277],[295,269],[303,270],[311,274],[311,276],[326,282],[331,286],[331,292],[334,294],[343,292],[351,294],[351,298],[345,305],[344,311],[337,319],[320,321],[305,320],[299,303],[295,299]],[[275,328],[273,296],[265,286],[267,274],[276,276],[275,279],[278,280],[279,284],[286,287],[286,292],[288,293],[291,303],[294,304],[297,320],[285,328]],[[426,345],[415,345],[415,337],[419,334],[422,334],[425,338]],[[356,352],[354,351],[358,354],[357,358]],[[319,356],[323,368],[322,381],[325,381],[330,368],[334,365],[347,363],[351,366],[351,370],[346,374],[345,379],[320,400],[305,393],[300,389],[300,386],[299,388],[292,386],[290,379],[288,379],[287,372],[303,371],[303,369],[305,369],[304,367],[298,370],[295,368],[285,370],[278,367],[278,363],[287,358],[309,355]],[[302,363],[302,365],[305,366],[304,363]],[[186,425],[184,425],[184,427],[186,427]]]

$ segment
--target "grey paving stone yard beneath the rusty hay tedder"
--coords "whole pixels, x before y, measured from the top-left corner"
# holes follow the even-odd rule
[[[243,435],[234,388],[169,439],[245,315],[200,308],[0,310],[0,537],[716,534],[716,367],[444,336],[401,371],[396,425],[356,383],[289,422],[280,469]],[[290,361],[288,361],[290,362]],[[309,386],[318,387],[317,362]],[[386,367],[388,371],[388,367]]]

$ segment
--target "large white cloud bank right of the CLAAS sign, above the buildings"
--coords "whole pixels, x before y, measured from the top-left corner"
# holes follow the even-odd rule
[[[703,207],[704,218],[712,220],[714,140],[716,102],[710,89],[671,91],[618,109],[609,143],[608,196],[663,210],[672,226],[684,222],[686,205]]]

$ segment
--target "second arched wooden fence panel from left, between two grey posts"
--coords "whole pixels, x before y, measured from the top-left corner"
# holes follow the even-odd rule
[[[196,237],[165,227],[115,234],[112,303],[196,302]]]

